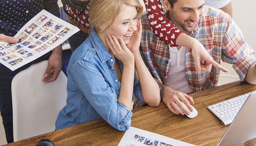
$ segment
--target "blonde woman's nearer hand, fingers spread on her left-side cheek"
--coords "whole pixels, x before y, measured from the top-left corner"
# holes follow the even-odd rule
[[[134,56],[132,52],[126,47],[122,38],[118,38],[118,41],[114,35],[108,33],[104,35],[104,37],[109,46],[109,49],[118,60],[122,61],[124,65],[134,63]]]

